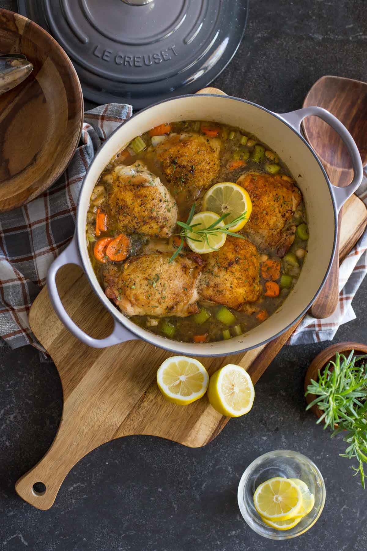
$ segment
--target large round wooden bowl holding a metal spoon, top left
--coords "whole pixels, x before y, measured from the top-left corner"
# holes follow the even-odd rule
[[[0,53],[23,53],[34,70],[0,95],[0,212],[31,201],[67,168],[83,125],[72,62],[39,25],[0,9]]]

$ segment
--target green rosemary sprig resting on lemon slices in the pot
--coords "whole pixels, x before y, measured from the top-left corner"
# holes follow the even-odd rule
[[[238,216],[234,220],[232,220],[231,224],[225,224],[224,226],[218,226],[218,224],[220,224],[224,219],[226,219],[229,216],[230,213],[226,213],[226,214],[223,214],[220,218],[218,218],[215,222],[213,222],[207,228],[200,228],[200,229],[198,229],[198,226],[200,226],[200,224],[191,224],[191,220],[194,217],[194,212],[195,212],[195,203],[191,207],[190,214],[189,214],[189,217],[188,217],[187,221],[186,222],[177,222],[177,225],[179,225],[182,228],[182,230],[180,231],[179,234],[175,234],[175,235],[178,235],[179,237],[181,237],[181,242],[180,242],[180,244],[177,248],[177,251],[175,251],[173,253],[173,255],[171,256],[171,258],[169,258],[169,262],[172,262],[174,260],[174,258],[176,258],[177,255],[179,255],[179,253],[182,250],[182,247],[184,246],[184,242],[185,242],[185,239],[187,238],[188,234],[193,234],[194,233],[194,234],[200,236],[201,239],[194,239],[194,237],[190,237],[190,240],[191,241],[197,241],[197,242],[205,240],[207,245],[213,251],[216,251],[217,249],[210,245],[210,243],[209,243],[209,236],[210,235],[217,235],[217,234],[222,233],[222,234],[227,234],[227,235],[233,235],[234,237],[240,237],[240,239],[246,239],[243,235],[233,233],[233,231],[229,230],[229,228],[231,228],[234,225],[237,225],[239,222],[242,222],[242,220],[245,220],[247,218],[246,217],[246,211],[243,212],[240,216]]]

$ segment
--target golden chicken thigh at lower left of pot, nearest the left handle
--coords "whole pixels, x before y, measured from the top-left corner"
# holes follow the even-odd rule
[[[120,271],[109,265],[106,295],[128,316],[185,317],[199,311],[196,282],[201,267],[189,257],[153,253],[129,258]]]

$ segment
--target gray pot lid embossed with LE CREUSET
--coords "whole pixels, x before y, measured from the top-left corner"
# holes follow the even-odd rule
[[[84,96],[141,109],[205,87],[242,39],[248,0],[18,0],[71,58]]]

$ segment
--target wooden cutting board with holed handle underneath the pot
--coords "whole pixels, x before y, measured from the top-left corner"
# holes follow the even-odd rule
[[[357,197],[350,197],[343,209],[341,258],[352,249],[366,223],[364,204]],[[62,268],[57,285],[75,323],[97,338],[111,332],[111,315],[80,268],[74,265]],[[64,393],[63,415],[50,450],[15,484],[21,498],[37,509],[49,509],[75,463],[109,440],[149,434],[199,447],[215,438],[228,423],[229,418],[217,413],[206,396],[189,406],[165,401],[156,385],[156,371],[171,353],[143,341],[104,349],[89,348],[79,342],[55,314],[46,288],[32,305],[29,320],[32,331],[56,364]],[[210,375],[228,363],[242,365],[255,383],[298,323],[262,347],[201,361]],[[46,485],[43,494],[32,488],[36,482]]]

